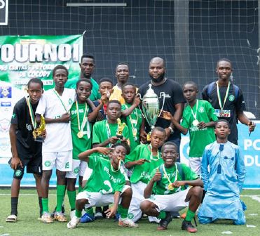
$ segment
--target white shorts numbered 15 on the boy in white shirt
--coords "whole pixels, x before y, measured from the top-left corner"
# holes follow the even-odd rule
[[[72,170],[72,150],[66,152],[42,152],[42,170]]]

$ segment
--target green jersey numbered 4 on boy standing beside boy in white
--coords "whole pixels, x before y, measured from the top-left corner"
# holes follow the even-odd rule
[[[80,128],[82,125],[83,117],[85,114],[85,104],[79,104],[78,103],[78,112],[79,112],[79,124]],[[88,122],[88,110],[89,107],[87,106],[86,111],[86,123],[83,128],[83,137],[79,138],[77,136],[79,132],[79,126],[78,126],[78,117],[77,117],[77,107],[76,102],[73,103],[71,106],[71,136],[72,136],[72,145],[73,145],[73,159],[78,160],[78,155],[81,152],[84,152],[85,150],[91,149],[91,130],[92,130],[92,124]]]

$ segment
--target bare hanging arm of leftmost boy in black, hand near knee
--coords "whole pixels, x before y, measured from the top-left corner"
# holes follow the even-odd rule
[[[20,165],[23,168],[22,161],[18,156],[17,148],[16,148],[16,129],[17,125],[11,124],[9,129],[10,143],[11,143],[11,152],[12,152],[12,160],[10,166],[13,170],[16,170]]]

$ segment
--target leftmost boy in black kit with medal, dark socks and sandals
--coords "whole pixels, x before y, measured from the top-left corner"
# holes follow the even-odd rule
[[[12,151],[9,164],[14,170],[14,174],[11,186],[11,214],[5,220],[6,222],[16,222],[17,220],[19,190],[25,167],[27,173],[33,173],[35,178],[40,217],[42,216],[42,143],[34,140],[33,131],[37,126],[35,111],[43,93],[43,84],[40,79],[33,78],[30,79],[27,87],[29,96],[22,98],[14,106],[9,130]],[[45,132],[42,136],[45,137]]]

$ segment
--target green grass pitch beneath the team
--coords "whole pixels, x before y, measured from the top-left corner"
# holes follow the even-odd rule
[[[5,219],[10,214],[10,189],[0,189],[0,236],[34,236],[34,235],[187,235],[188,232],[181,230],[181,219],[174,219],[166,231],[156,231],[157,225],[148,223],[147,218],[139,222],[139,228],[122,228],[114,220],[96,220],[93,223],[79,224],[77,229],[67,229],[67,223],[54,222],[44,224],[37,220],[39,217],[38,198],[36,190],[22,189],[20,191],[18,205],[18,221],[6,223]],[[50,191],[50,209],[55,206],[55,190]],[[200,225],[196,235],[223,235],[222,232],[231,231],[232,235],[254,236],[260,235],[260,190],[244,190],[241,199],[247,205],[247,225],[234,226],[231,221],[222,220],[214,224]],[[69,219],[69,203],[65,198],[65,210]],[[198,221],[198,220],[197,220]]]

